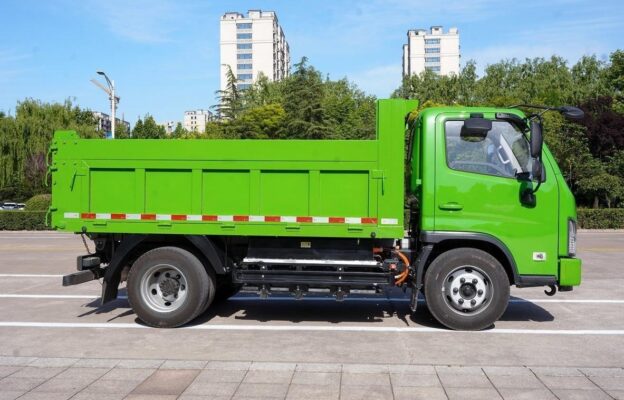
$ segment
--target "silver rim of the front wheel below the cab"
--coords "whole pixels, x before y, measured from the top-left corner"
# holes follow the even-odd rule
[[[494,289],[488,275],[479,268],[463,265],[446,275],[442,297],[456,313],[474,315],[490,304]]]

